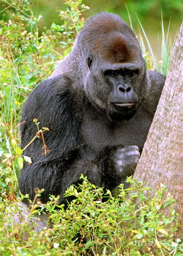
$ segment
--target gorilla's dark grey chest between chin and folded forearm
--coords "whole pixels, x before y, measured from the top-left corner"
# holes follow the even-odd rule
[[[93,150],[105,146],[136,145],[142,150],[151,121],[145,115],[136,115],[130,120],[110,122],[95,114],[86,113],[81,125],[81,136]]]

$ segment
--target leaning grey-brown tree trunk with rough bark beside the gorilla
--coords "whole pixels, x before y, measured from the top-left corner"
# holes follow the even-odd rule
[[[134,177],[154,189],[166,184],[180,213],[183,231],[183,24],[175,43],[168,75]],[[168,208],[164,209],[168,214]]]

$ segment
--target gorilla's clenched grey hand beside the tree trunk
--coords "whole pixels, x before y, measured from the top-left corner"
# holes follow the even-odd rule
[[[134,174],[139,158],[140,153],[137,146],[126,146],[115,151],[113,162],[115,170],[118,174],[121,174],[122,180]]]

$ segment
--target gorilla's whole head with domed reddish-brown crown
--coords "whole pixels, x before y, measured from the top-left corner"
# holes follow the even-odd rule
[[[146,94],[146,64],[132,29],[117,15],[97,14],[75,46],[86,97],[111,119],[131,117]]]

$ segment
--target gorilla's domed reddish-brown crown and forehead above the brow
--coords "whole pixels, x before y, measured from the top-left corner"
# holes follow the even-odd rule
[[[102,13],[88,19],[77,40],[85,55],[97,55],[111,63],[133,62],[141,58],[134,32],[114,14]]]

